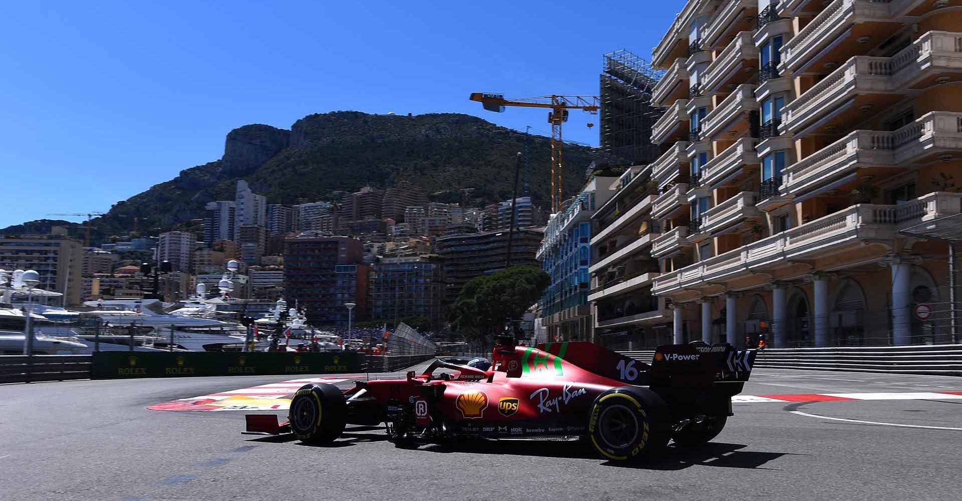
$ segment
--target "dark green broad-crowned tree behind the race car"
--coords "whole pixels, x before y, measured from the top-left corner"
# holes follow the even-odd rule
[[[541,268],[527,264],[475,277],[451,307],[452,326],[472,338],[496,334],[541,299],[550,282]]]

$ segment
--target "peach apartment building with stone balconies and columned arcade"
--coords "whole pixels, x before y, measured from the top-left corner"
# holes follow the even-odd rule
[[[958,2],[690,0],[652,64],[676,342],[949,338],[948,245],[900,232],[960,212]]]

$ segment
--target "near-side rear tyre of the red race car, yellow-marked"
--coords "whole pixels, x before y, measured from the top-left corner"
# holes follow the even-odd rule
[[[588,420],[595,450],[614,461],[645,460],[671,435],[668,405],[647,388],[612,388],[598,395]]]

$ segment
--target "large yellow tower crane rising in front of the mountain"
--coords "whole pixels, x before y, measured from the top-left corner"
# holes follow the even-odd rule
[[[551,124],[551,212],[561,211],[562,197],[562,149],[564,142],[561,135],[561,124],[568,121],[570,110],[597,114],[601,109],[598,96],[547,95],[524,99],[505,99],[504,94],[490,94],[472,92],[469,99],[481,103],[485,110],[504,113],[505,107],[546,108],[547,123]],[[589,123],[592,127],[595,124]]]

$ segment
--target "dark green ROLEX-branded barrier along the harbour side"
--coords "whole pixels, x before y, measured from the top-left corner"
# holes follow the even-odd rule
[[[122,352],[93,354],[92,379],[363,372],[360,353]]]

